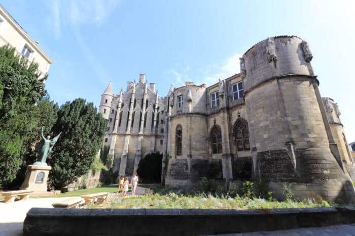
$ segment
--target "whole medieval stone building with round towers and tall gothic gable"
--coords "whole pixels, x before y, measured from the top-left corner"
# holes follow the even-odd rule
[[[100,112],[110,119],[105,143],[115,168],[131,174],[146,153],[159,151],[166,185],[191,188],[204,176],[262,179],[278,198],[291,183],[298,198],[354,201],[354,163],[339,109],[321,98],[312,57],[306,41],[277,36],[247,50],[239,74],[209,87],[186,82],[159,98],[144,75],[118,96],[110,84]],[[122,103],[124,115],[117,115]],[[132,118],[135,109],[148,118]]]

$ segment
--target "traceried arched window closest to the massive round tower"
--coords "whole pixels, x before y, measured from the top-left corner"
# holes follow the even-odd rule
[[[248,123],[242,117],[238,117],[233,127],[235,145],[238,151],[250,150]]]

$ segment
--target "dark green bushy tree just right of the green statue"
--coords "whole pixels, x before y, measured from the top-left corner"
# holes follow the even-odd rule
[[[88,172],[102,144],[107,124],[94,105],[84,99],[60,107],[52,132],[62,131],[62,134],[48,158],[52,166],[49,175],[52,187],[60,189]]]

